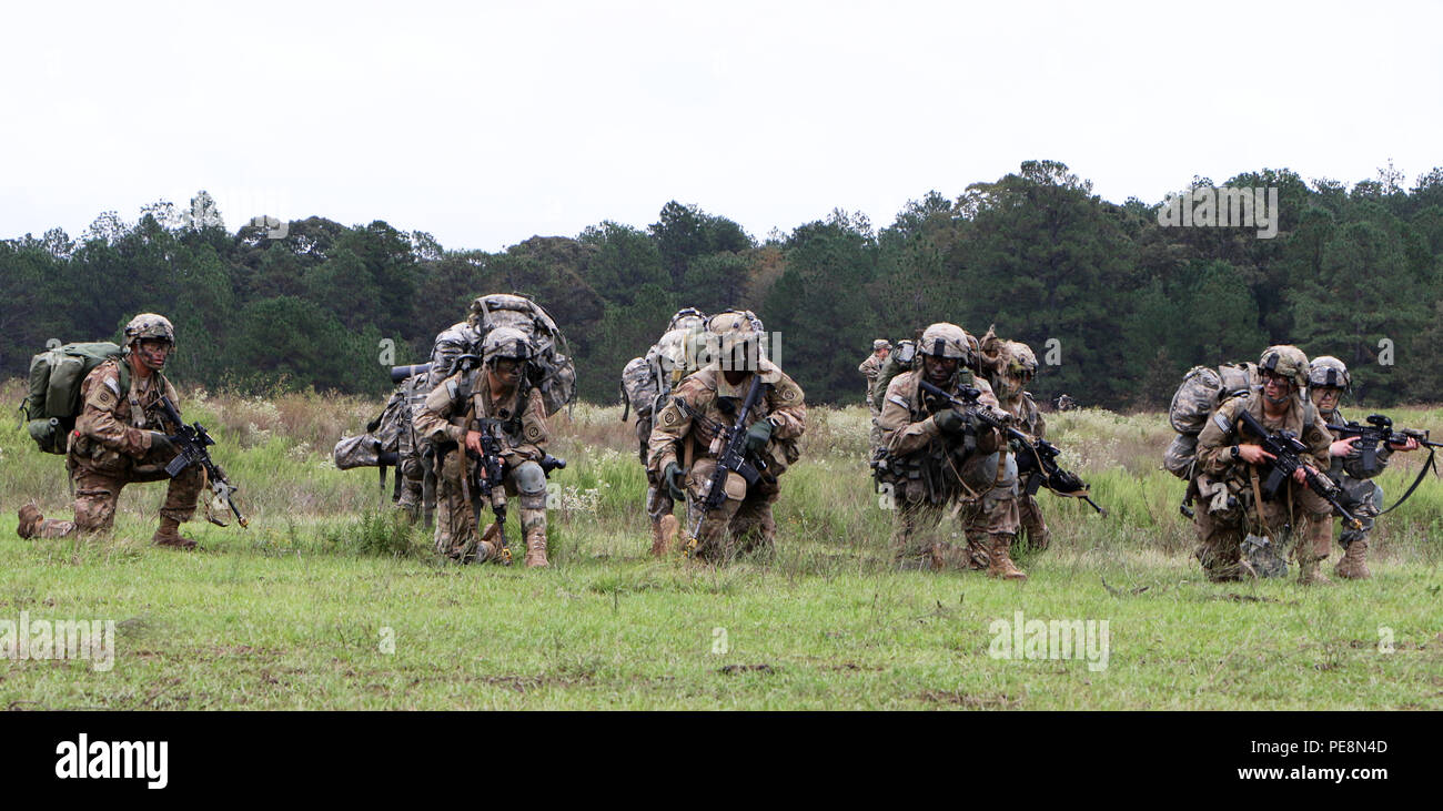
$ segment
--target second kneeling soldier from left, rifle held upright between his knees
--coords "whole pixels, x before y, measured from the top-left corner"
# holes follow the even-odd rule
[[[486,333],[481,349],[482,368],[463,364],[437,385],[416,413],[416,433],[431,440],[440,455],[440,486],[436,496],[436,548],[466,560],[470,550],[478,561],[501,554],[501,527],[492,524],[478,538],[473,504],[463,473],[466,452],[482,456],[482,433],[495,426],[505,460],[505,494],[521,501],[521,531],[525,535],[528,567],[548,566],[545,557],[545,472],[544,449],[551,439],[541,393],[522,387],[531,346],[525,333],[496,328]],[[525,397],[522,398],[522,391]]]

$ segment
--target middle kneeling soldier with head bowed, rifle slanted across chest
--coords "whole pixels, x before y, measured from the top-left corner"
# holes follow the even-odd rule
[[[706,485],[716,470],[716,439],[732,427],[755,377],[763,395],[747,414],[747,456],[762,463],[760,478],[749,485],[739,473],[724,479],[722,507],[706,514],[696,528],[696,556],[726,561],[739,551],[771,550],[776,522],[772,504],[781,495],[781,476],[797,462],[797,439],[807,429],[802,390],[781,368],[762,356],[762,336],[749,313],[727,312],[707,323],[706,365],[674,390],[657,413],[646,468],[674,499],[690,496],[688,528],[703,512]]]

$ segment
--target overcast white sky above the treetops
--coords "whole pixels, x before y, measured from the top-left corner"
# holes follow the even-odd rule
[[[883,227],[1052,159],[1193,175],[1443,165],[1443,3],[9,3],[0,238],[215,195],[495,251],[678,199],[753,237]]]

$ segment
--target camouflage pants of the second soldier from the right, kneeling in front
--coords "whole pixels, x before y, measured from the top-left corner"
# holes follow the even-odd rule
[[[1297,557],[1328,557],[1332,544],[1333,508],[1313,491],[1296,482],[1278,491],[1273,501],[1264,501],[1261,509],[1251,505],[1251,494],[1242,494],[1238,507],[1211,511],[1208,502],[1199,502],[1193,514],[1198,527],[1198,548],[1193,551],[1202,563],[1209,580],[1238,580],[1244,574],[1242,540],[1248,530],[1271,535],[1277,553],[1287,554],[1294,530],[1297,531]],[[1266,527],[1267,532],[1261,532]]]

